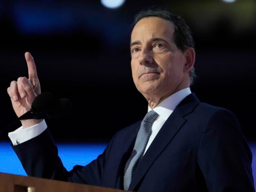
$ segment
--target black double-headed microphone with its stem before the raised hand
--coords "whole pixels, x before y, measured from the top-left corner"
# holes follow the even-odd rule
[[[18,117],[10,125],[8,125],[4,130],[0,131],[0,138],[2,134],[6,131],[11,131],[13,126],[20,120],[27,119],[59,119],[65,117],[72,108],[72,104],[69,99],[62,98],[57,99],[50,92],[43,92],[34,99],[31,104],[31,109]]]

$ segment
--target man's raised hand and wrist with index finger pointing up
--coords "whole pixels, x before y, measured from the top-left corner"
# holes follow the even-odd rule
[[[18,117],[30,110],[34,98],[41,93],[34,59],[29,52],[25,53],[25,59],[27,61],[28,78],[25,76],[19,77],[17,81],[11,81],[10,87],[7,88],[12,107]],[[39,120],[23,121],[27,123],[30,122],[30,126],[39,122]],[[22,125],[24,126],[25,124],[22,122]]]

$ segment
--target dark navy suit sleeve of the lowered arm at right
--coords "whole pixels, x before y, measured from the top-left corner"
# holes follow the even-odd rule
[[[210,192],[254,192],[252,154],[236,117],[215,111],[205,122],[198,165]]]

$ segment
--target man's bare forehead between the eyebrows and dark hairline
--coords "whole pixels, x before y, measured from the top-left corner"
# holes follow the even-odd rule
[[[173,34],[174,25],[171,21],[151,16],[136,23],[131,34],[131,42],[156,37],[172,40]]]

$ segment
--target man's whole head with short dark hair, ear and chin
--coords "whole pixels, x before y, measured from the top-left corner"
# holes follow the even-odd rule
[[[194,40],[181,17],[160,9],[141,11],[130,48],[134,83],[149,102],[158,104],[193,83]]]

